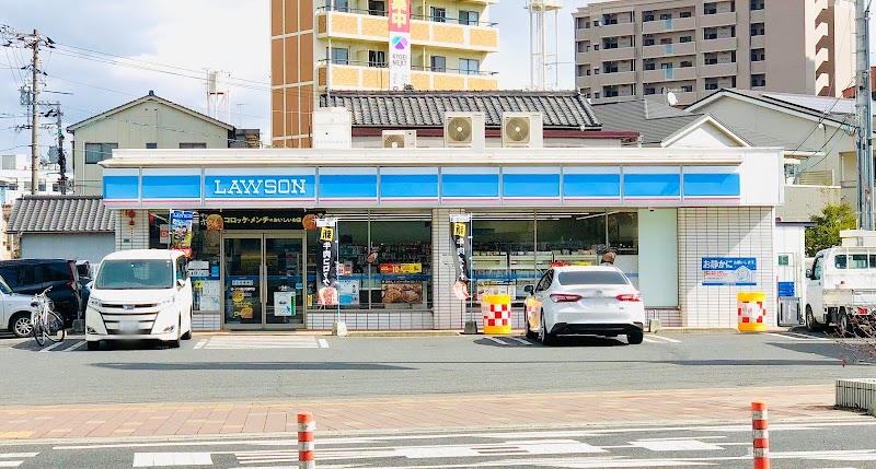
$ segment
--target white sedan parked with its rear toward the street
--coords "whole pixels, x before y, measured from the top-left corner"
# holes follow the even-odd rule
[[[558,335],[626,335],[629,343],[642,343],[642,295],[616,267],[552,267],[526,289],[528,338],[550,345]]]

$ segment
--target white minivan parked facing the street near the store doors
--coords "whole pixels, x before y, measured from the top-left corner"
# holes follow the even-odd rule
[[[192,281],[184,253],[130,249],[107,255],[97,268],[85,309],[85,340],[158,339],[171,348],[192,338]]]

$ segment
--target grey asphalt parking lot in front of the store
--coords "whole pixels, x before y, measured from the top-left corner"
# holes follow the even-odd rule
[[[284,342],[284,340],[286,342]],[[0,339],[3,404],[333,399],[830,384],[876,377],[857,351],[800,333],[574,338],[195,336],[89,352]],[[42,390],[42,391],[41,391]]]

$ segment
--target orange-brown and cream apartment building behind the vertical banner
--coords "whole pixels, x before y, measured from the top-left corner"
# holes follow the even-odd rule
[[[272,145],[309,148],[319,96],[334,90],[389,90],[391,0],[272,0]],[[411,85],[496,90],[483,68],[498,51],[498,0],[413,0]]]

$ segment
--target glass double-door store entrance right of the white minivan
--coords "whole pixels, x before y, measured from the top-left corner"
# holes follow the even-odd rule
[[[304,237],[300,233],[226,232],[224,327],[304,327]]]

